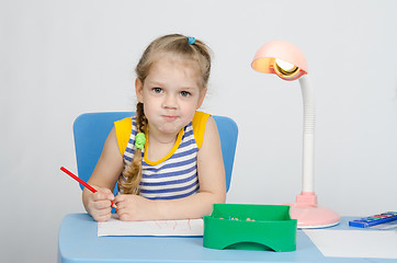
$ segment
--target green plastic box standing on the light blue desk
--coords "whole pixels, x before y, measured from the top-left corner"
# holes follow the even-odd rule
[[[296,219],[290,206],[215,204],[204,217],[203,245],[209,249],[296,250]]]

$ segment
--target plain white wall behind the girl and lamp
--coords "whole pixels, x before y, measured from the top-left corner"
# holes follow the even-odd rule
[[[1,262],[54,262],[61,218],[83,211],[71,125],[131,111],[134,67],[155,37],[214,50],[203,106],[240,134],[229,203],[292,202],[300,191],[298,82],[250,68],[272,39],[306,54],[317,92],[316,192],[341,215],[396,210],[397,2],[53,1],[0,3]],[[22,252],[23,251],[23,252]]]

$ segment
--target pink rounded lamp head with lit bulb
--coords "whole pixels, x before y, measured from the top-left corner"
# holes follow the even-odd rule
[[[285,41],[264,44],[253,57],[251,67],[259,72],[275,73],[284,80],[296,80],[307,73],[305,55]]]

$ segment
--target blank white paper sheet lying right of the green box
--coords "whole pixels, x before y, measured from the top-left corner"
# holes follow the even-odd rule
[[[397,231],[304,230],[325,256],[397,259]]]

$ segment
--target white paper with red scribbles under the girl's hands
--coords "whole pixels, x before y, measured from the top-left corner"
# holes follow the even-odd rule
[[[203,236],[203,219],[121,221],[112,217],[98,222],[98,237],[103,236]]]

